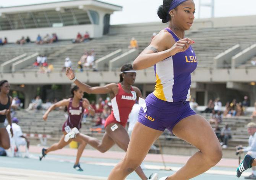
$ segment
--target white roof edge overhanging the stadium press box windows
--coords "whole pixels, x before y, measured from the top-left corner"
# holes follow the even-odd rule
[[[83,8],[99,9],[100,8],[104,11],[108,11],[109,13],[113,13],[114,11],[121,11],[123,8],[122,6],[100,2],[98,0],[71,0],[71,1],[69,0],[69,1],[62,1],[62,2],[2,7],[0,8],[0,15],[18,13],[18,12],[49,10],[49,9],[60,10],[62,7],[63,8],[78,7],[79,9],[83,9]]]

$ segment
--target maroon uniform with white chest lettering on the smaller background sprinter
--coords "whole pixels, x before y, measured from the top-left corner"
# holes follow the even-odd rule
[[[79,101],[78,107],[72,107],[72,98],[68,104],[68,119],[62,126],[62,131],[65,131],[65,127],[69,126],[71,129],[76,127],[77,129],[81,128],[81,121],[83,119],[84,108],[83,108],[83,100]]]

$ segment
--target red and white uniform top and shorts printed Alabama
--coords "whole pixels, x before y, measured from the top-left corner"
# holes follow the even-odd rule
[[[126,126],[129,114],[137,99],[136,92],[131,87],[131,92],[127,93],[123,90],[120,83],[118,83],[118,93],[111,100],[112,111],[105,121],[105,127],[111,123],[121,124]]]

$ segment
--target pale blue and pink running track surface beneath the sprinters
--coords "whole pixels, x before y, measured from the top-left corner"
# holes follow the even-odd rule
[[[78,172],[73,169],[76,149],[63,148],[50,152],[46,158],[39,161],[42,147],[31,146],[30,158],[10,158],[0,156],[0,180],[106,180],[109,172],[125,155],[124,152],[109,151],[100,153],[96,150],[84,150],[80,164],[84,169]],[[24,151],[24,149],[21,149]],[[189,156],[164,155],[167,169],[164,170],[160,155],[149,154],[143,162],[147,176],[158,173],[159,177],[173,174],[185,164]],[[217,166],[193,180],[239,180],[237,178],[237,159],[222,159]],[[251,174],[251,170],[243,176]],[[139,180],[136,173],[130,174],[126,180]]]

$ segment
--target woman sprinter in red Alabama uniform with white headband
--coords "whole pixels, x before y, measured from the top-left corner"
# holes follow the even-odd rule
[[[125,126],[133,105],[139,97],[142,97],[139,88],[132,86],[136,78],[136,72],[133,70],[132,65],[123,65],[121,68],[120,83],[110,83],[101,87],[91,87],[87,84],[81,83],[76,79],[73,71],[70,68],[66,69],[66,75],[79,88],[88,94],[109,93],[112,102],[112,111],[105,121],[105,134],[103,136],[102,142],[96,138],[81,133],[75,133],[77,131],[75,131],[75,128],[65,136],[65,140],[69,140],[73,137],[79,140],[84,140],[86,143],[89,143],[89,145],[102,153],[109,150],[115,143],[124,151],[126,151],[130,142],[130,138],[127,131],[125,130]],[[135,172],[141,179],[148,179],[140,166],[135,169]],[[157,174],[151,175],[149,179],[156,180]]]

